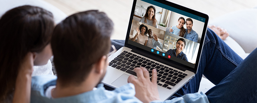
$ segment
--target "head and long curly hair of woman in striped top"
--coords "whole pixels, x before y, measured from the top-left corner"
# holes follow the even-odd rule
[[[155,9],[154,6],[148,6],[147,9],[146,9],[146,14],[144,15],[146,18],[147,17],[152,18],[153,26],[155,26],[155,23],[156,23],[155,12],[156,12],[156,9]],[[145,19],[145,22],[147,22],[146,19]]]

